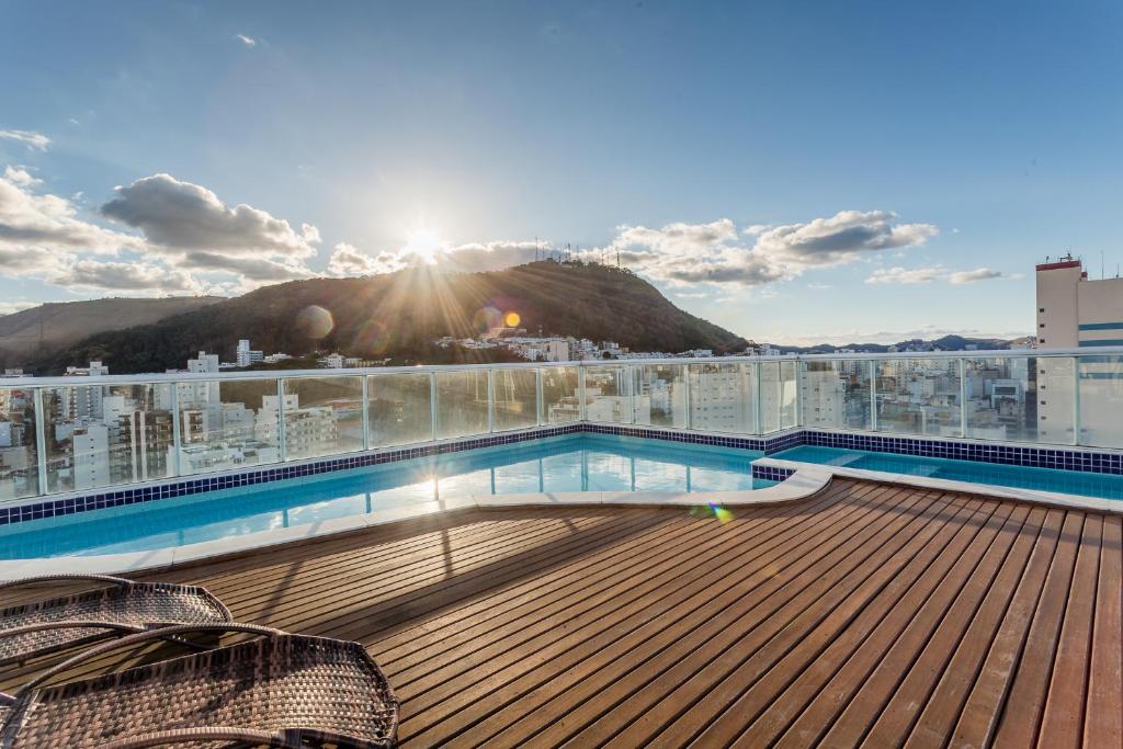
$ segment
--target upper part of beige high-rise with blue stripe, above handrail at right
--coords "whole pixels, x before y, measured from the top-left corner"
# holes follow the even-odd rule
[[[1123,278],[1088,278],[1071,255],[1037,266],[1038,348],[1123,346]]]

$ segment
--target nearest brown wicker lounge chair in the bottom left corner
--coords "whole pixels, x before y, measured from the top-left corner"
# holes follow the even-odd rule
[[[231,631],[255,637],[43,686],[111,650],[162,634]],[[44,672],[4,702],[0,745],[10,749],[323,743],[374,749],[392,747],[398,733],[398,700],[362,646],[254,624],[177,625],[103,642]]]

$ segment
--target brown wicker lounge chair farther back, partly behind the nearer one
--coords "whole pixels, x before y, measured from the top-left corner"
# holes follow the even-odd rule
[[[109,575],[44,575],[0,583],[0,590],[80,581],[111,585],[0,611],[0,666],[153,627],[232,621],[218,599],[191,585],[134,583]]]

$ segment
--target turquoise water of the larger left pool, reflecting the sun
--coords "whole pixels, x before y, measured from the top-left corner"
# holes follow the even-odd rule
[[[572,435],[0,527],[0,559],[211,541],[440,497],[527,492],[751,490],[760,453]],[[700,501],[701,503],[701,501]]]

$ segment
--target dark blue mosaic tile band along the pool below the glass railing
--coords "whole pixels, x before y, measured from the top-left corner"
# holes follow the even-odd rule
[[[673,428],[629,427],[618,424],[568,423],[557,427],[540,427],[518,432],[504,432],[460,439],[456,441],[423,444],[396,449],[383,449],[349,454],[345,456],[325,457],[318,460],[305,460],[295,464],[256,467],[234,474],[212,476],[192,476],[168,481],[162,484],[150,484],[135,488],[113,488],[82,496],[46,499],[40,502],[25,503],[17,506],[0,508],[0,526],[69,515],[75,512],[101,510],[126,504],[165,500],[189,494],[214,492],[236,486],[249,486],[285,478],[312,476],[363,468],[373,465],[409,460],[412,458],[445,455],[462,450],[474,450],[484,447],[512,445],[528,440],[560,437],[564,435],[590,433],[611,435],[617,437],[636,437],[640,439],[657,439],[692,445],[707,445],[733,449],[754,450],[765,455],[775,455],[801,445],[821,447],[839,447],[874,453],[894,453],[898,455],[915,455],[931,458],[952,458],[956,460],[975,460],[1002,465],[1031,466],[1035,468],[1060,468],[1063,471],[1081,471],[1123,475],[1123,451],[1087,451],[1063,448],[1017,447],[1011,445],[992,445],[985,442],[960,441],[955,439],[925,439],[919,437],[895,437],[873,435],[867,432],[836,432],[815,429],[792,429],[775,437],[734,437],[682,431]],[[784,481],[791,473],[768,469],[765,466],[754,466],[752,476],[767,481]]]

